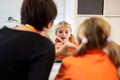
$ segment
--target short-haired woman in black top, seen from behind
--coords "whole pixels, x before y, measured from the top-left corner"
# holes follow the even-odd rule
[[[21,25],[0,30],[0,80],[48,80],[55,59],[48,32],[56,15],[53,0],[23,0]]]

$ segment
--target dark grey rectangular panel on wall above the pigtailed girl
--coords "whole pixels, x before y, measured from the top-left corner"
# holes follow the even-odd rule
[[[104,0],[78,0],[78,14],[103,15]]]

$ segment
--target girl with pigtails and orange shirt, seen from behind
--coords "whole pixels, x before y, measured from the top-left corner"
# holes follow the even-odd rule
[[[111,41],[110,31],[103,18],[86,19],[77,31],[79,47],[62,60],[54,80],[119,80],[115,65],[103,50]]]

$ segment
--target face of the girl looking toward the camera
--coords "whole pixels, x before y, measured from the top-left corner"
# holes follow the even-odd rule
[[[56,32],[56,36],[60,37],[63,42],[68,41],[71,36],[71,30],[68,27],[59,27]]]

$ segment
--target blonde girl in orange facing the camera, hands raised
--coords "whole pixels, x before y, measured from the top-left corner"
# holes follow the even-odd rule
[[[56,48],[56,61],[61,61],[66,56],[71,55],[71,52],[78,45],[77,39],[72,34],[71,25],[66,21],[57,24],[53,42]]]

